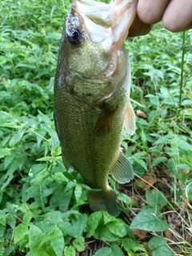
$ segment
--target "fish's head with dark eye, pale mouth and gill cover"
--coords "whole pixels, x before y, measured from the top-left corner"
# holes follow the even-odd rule
[[[126,75],[123,42],[136,14],[138,0],[109,4],[74,0],[62,34],[60,66],[65,73],[109,82],[106,98]],[[102,97],[103,98],[103,97]]]

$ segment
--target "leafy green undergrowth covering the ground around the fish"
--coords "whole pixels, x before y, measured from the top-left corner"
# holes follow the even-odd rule
[[[70,2],[0,3],[0,256],[192,255],[192,30],[172,34],[158,24],[126,42],[138,117],[122,147],[135,181],[119,186],[110,177],[121,210],[113,218],[91,213],[54,130],[54,73]]]

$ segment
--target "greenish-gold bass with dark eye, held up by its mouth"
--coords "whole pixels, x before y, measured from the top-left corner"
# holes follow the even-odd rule
[[[124,184],[134,171],[121,142],[135,133],[130,102],[130,60],[123,42],[138,0],[109,4],[74,0],[66,15],[54,80],[54,122],[66,170],[74,168],[90,187],[93,211],[118,216],[108,174]]]

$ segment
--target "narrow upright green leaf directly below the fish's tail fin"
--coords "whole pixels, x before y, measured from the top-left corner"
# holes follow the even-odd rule
[[[94,234],[101,218],[102,218],[102,211],[96,211],[95,213],[90,214],[87,220],[87,234],[86,234],[87,238],[90,238]]]

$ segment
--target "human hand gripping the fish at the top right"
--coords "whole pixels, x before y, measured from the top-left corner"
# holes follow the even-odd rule
[[[153,24],[160,21],[172,32],[191,29],[192,0],[139,0],[129,37],[149,33]]]

